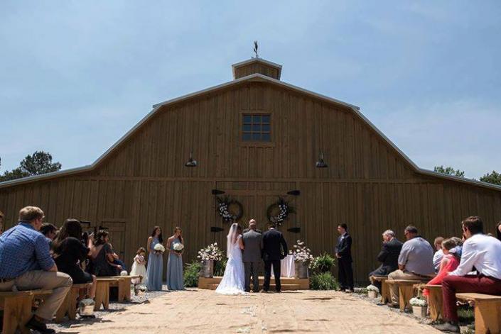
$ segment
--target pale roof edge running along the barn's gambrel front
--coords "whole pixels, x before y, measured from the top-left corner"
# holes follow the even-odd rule
[[[237,65],[239,65],[239,64],[237,64]],[[63,177],[63,176],[66,176],[66,175],[80,174],[82,172],[89,172],[92,169],[95,169],[101,162],[103,162],[109,155],[111,155],[112,152],[115,149],[117,149],[117,147],[119,147],[119,145],[121,145],[122,143],[124,143],[125,140],[127,140],[129,137],[131,137],[131,135],[133,135],[136,132],[136,130],[138,130],[139,128],[141,128],[141,126],[144,123],[146,123],[147,121],[149,121],[149,119],[151,117],[153,117],[153,115],[158,111],[159,108],[161,108],[163,106],[168,106],[168,105],[171,105],[171,104],[176,104],[178,102],[185,101],[185,100],[194,98],[196,96],[201,96],[203,94],[207,94],[207,93],[212,92],[212,91],[217,91],[217,90],[220,90],[220,89],[225,89],[227,87],[236,86],[237,84],[241,84],[242,82],[269,82],[271,84],[276,84],[276,85],[284,87],[286,89],[291,89],[293,91],[297,91],[297,92],[299,92],[301,94],[305,94],[307,96],[311,96],[311,97],[313,97],[315,99],[319,99],[319,100],[325,101],[327,103],[337,104],[338,106],[345,106],[347,108],[350,108],[352,110],[352,112],[355,113],[356,116],[360,117],[362,119],[362,121],[364,121],[365,123],[367,123],[367,125],[370,126],[370,128],[372,128],[373,130],[375,130],[375,132],[377,134],[379,134],[381,136],[381,138],[388,143],[388,145],[390,145],[391,147],[393,147],[394,150],[396,150],[398,152],[398,154],[401,155],[402,158],[404,160],[406,160],[406,162],[409,163],[409,165],[411,165],[411,167],[414,169],[415,172],[417,172],[419,174],[424,174],[424,175],[427,175],[427,176],[430,176],[430,177],[436,177],[436,178],[440,178],[440,179],[447,179],[447,180],[453,181],[453,182],[461,182],[461,183],[465,183],[465,184],[472,184],[474,186],[479,186],[479,187],[484,187],[484,188],[488,188],[488,189],[495,189],[497,191],[501,191],[501,186],[497,186],[495,184],[490,184],[490,183],[486,183],[486,182],[480,182],[480,181],[477,181],[477,180],[474,180],[474,179],[466,179],[464,177],[455,177],[455,176],[451,176],[451,175],[441,174],[441,173],[438,173],[438,172],[433,172],[433,171],[431,171],[429,169],[420,168],[409,157],[407,157],[405,155],[405,153],[402,152],[402,150],[400,150],[399,147],[397,147],[397,145],[395,145],[392,142],[392,140],[389,140],[389,138],[387,138],[387,136],[384,135],[384,133],[382,133],[374,124],[372,124],[371,121],[369,121],[360,112],[360,108],[358,106],[355,106],[353,104],[348,104],[348,103],[340,101],[338,99],[333,99],[333,98],[331,98],[329,96],[318,94],[318,93],[315,93],[313,91],[308,91],[307,89],[303,89],[301,87],[297,87],[297,86],[294,86],[292,84],[288,84],[288,83],[283,82],[281,80],[277,80],[277,79],[274,79],[274,78],[271,78],[271,77],[268,77],[268,76],[266,76],[264,74],[259,74],[259,73],[250,74],[247,77],[242,77],[242,78],[239,78],[239,79],[235,79],[235,80],[232,80],[230,82],[225,82],[224,84],[220,84],[220,85],[217,85],[217,86],[214,86],[214,87],[210,87],[208,89],[203,89],[203,90],[200,90],[200,91],[195,91],[194,93],[186,94],[186,95],[183,95],[183,96],[179,96],[179,97],[177,97],[175,99],[170,99],[168,101],[163,101],[163,102],[158,103],[158,104],[153,104],[153,110],[151,110],[146,116],[144,116],[144,118],[141,119],[141,121],[139,121],[139,123],[137,123],[136,126],[134,126],[129,131],[127,131],[127,133],[125,133],[125,135],[123,135],[122,138],[120,138],[117,141],[117,143],[114,143],[114,145],[112,145],[112,147],[109,147],[109,149],[106,152],[104,152],[100,157],[98,157],[97,160],[95,160],[95,162],[93,162],[91,165],[86,165],[86,166],[72,168],[72,169],[65,169],[65,170],[61,170],[61,171],[58,171],[58,172],[51,172],[51,173],[47,173],[47,174],[34,175],[34,176],[31,176],[31,177],[23,177],[22,179],[15,179],[15,180],[6,181],[6,182],[0,182],[0,188],[11,187],[11,186],[14,186],[14,185],[17,185],[17,184],[24,184],[24,183],[34,182],[34,181],[38,181],[38,180],[43,180],[43,179],[52,179],[52,178],[55,178],[55,177]]]

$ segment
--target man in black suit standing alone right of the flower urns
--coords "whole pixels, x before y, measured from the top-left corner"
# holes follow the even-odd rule
[[[341,291],[353,292],[353,269],[351,257],[351,235],[345,223],[338,225],[338,246],[335,247],[335,257],[338,258],[338,281]]]

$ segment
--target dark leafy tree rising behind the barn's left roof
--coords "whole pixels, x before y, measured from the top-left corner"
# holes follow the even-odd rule
[[[39,175],[50,172],[57,172],[61,169],[59,162],[52,162],[52,155],[49,152],[36,151],[32,155],[26,155],[20,166],[0,175],[0,182],[12,179],[21,179],[31,175]]]

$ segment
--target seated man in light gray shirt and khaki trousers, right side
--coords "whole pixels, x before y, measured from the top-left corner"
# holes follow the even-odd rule
[[[414,226],[407,226],[404,230],[407,241],[402,246],[399,255],[399,269],[388,275],[388,279],[426,279],[434,273],[433,247],[430,243],[418,235]],[[399,306],[399,287],[396,284],[390,286],[392,307]]]

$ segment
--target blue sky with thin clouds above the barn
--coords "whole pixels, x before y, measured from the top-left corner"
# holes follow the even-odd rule
[[[183,4],[180,4],[183,2]],[[501,1],[0,3],[0,157],[94,162],[151,105],[259,55],[360,106],[417,165],[501,172]]]

